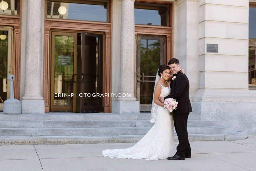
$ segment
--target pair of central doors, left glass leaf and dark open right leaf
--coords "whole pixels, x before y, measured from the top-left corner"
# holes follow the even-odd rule
[[[102,112],[103,34],[51,32],[51,112]]]

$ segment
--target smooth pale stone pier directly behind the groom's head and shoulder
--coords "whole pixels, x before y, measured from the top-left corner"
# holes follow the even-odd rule
[[[198,91],[199,0],[177,0],[174,6],[174,58],[189,79],[189,97]]]

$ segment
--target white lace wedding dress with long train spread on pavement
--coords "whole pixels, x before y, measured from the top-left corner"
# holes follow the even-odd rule
[[[170,85],[169,87],[162,86],[160,97],[165,97],[169,94]],[[102,155],[111,158],[144,158],[146,160],[166,159],[173,156],[173,116],[161,106],[158,106],[157,113],[155,124],[137,144],[128,149],[108,149],[102,151]]]

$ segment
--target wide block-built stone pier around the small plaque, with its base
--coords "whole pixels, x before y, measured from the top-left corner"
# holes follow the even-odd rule
[[[255,90],[248,90],[248,1],[200,1],[199,90],[194,114],[233,131],[256,133]],[[207,51],[218,44],[218,52]],[[242,107],[238,107],[242,106]]]

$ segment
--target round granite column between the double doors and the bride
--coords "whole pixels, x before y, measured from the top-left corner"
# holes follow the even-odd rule
[[[135,98],[135,0],[121,0],[120,43],[120,92],[130,97],[114,98],[112,112],[119,114],[139,113],[139,101]]]

